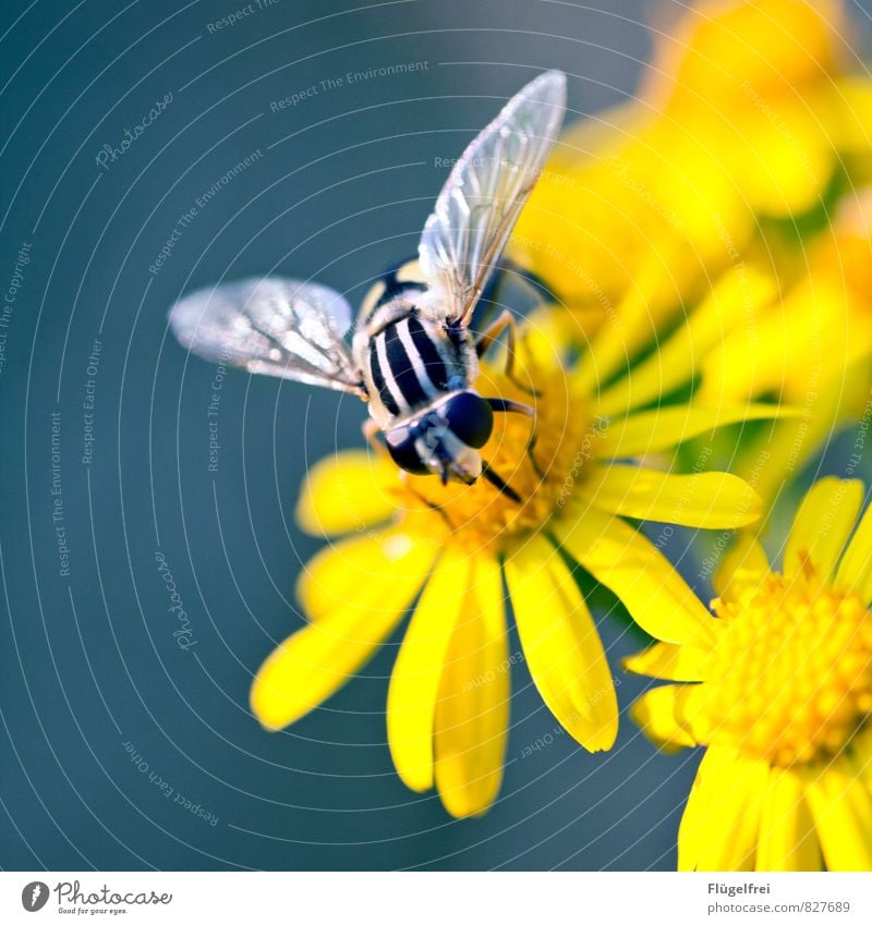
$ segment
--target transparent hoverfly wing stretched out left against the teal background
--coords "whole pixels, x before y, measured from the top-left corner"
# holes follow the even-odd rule
[[[280,277],[207,287],[170,309],[179,342],[204,360],[363,395],[344,342],[350,325],[338,292]]]

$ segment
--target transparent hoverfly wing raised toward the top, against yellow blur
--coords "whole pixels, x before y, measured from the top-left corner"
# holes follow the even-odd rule
[[[424,226],[429,309],[469,324],[560,131],[566,75],[546,71],[516,94],[463,151]]]

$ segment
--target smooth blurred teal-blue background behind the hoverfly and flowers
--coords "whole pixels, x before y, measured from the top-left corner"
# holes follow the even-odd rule
[[[627,99],[651,28],[678,10],[4,7],[4,289],[23,270],[0,375],[0,866],[674,866],[698,756],[657,754],[629,721],[588,755],[522,662],[501,796],[479,819],[393,772],[397,638],[324,708],[261,729],[252,672],[301,624],[293,583],[320,546],[293,524],[298,487],[308,463],[360,446],[364,412],[229,373],[210,457],[216,370],[168,338],[166,309],[268,272],[355,302],[414,249],[446,162],[505,98],[559,68],[571,119]],[[642,682],[619,661],[642,641],[609,606],[595,613],[626,708]]]

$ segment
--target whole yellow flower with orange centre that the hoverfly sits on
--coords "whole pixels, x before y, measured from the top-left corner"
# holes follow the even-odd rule
[[[613,678],[572,574],[580,563],[652,635],[670,643],[711,632],[705,609],[654,544],[623,516],[738,527],[756,495],[725,473],[676,475],[632,460],[722,424],[771,415],[764,406],[676,406],[606,418],[580,385],[557,321],[540,313],[517,346],[514,379],[483,364],[482,394],[521,402],[531,422],[497,415],[483,457],[498,490],[400,476],[378,455],[340,452],[314,466],[298,519],[340,538],[305,567],[298,596],[308,625],[261,668],[252,708],[268,729],[322,704],[413,614],[387,701],[390,751],[415,791],[438,789],[455,816],[484,812],[499,789],[509,669],[523,658],[544,702],[585,748],[609,748],[618,726]],[[569,372],[567,369],[569,368]],[[522,653],[507,642],[506,581]]]

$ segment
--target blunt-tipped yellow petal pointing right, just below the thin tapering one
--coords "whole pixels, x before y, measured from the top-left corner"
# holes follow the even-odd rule
[[[758,494],[736,475],[674,475],[634,465],[591,470],[579,494],[597,508],[627,518],[698,527],[744,526],[760,518]]]

